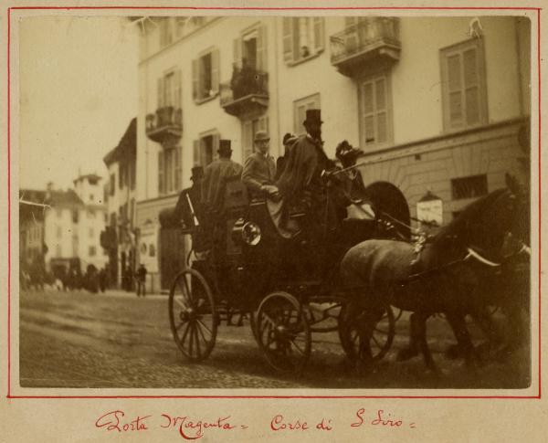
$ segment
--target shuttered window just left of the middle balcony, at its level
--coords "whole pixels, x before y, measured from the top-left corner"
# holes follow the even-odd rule
[[[211,49],[192,60],[192,94],[195,101],[216,96],[219,91],[219,50]]]

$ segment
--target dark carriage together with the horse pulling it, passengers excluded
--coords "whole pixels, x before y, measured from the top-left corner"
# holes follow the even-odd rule
[[[461,293],[469,284],[479,288],[478,280],[492,274],[476,269],[485,256],[471,247],[483,247],[479,250],[488,257],[499,253],[521,207],[515,195],[496,191],[470,205],[434,238],[426,254],[430,264],[415,278],[409,276],[416,245],[406,237],[408,230],[402,234],[395,228],[401,223],[397,220],[391,223],[378,215],[347,219],[335,231],[323,225],[320,237],[301,232],[285,238],[266,202],[250,201],[239,181],[227,184],[220,215],[196,214],[200,211],[187,196],[192,214],[184,218],[194,223],[185,232],[209,238],[199,242],[208,245],[207,250],[195,251],[195,259],[188,260],[170,291],[175,343],[188,360],[204,360],[215,346],[217,326],[239,314],[248,316],[261,352],[280,372],[302,371],[316,332],[338,332],[351,360],[371,363],[383,358],[393,342],[396,318],[391,306],[396,306],[420,312],[425,328],[429,315],[448,314],[459,344],[469,347],[464,316],[488,300],[497,302],[485,291]],[[398,275],[404,277],[398,280]],[[433,364],[426,329],[419,331],[415,338],[421,341],[427,364]]]

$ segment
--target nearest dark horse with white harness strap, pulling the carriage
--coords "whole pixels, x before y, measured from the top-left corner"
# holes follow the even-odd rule
[[[467,206],[418,257],[411,244],[378,239],[364,241],[346,253],[343,278],[368,289],[359,301],[364,312],[359,326],[363,362],[372,362],[369,339],[387,304],[420,316],[420,321],[412,322],[416,328],[412,337],[428,367],[436,370],[426,342],[426,319],[437,312],[445,313],[467,363],[473,362],[464,318],[498,304],[495,291],[479,290],[492,272],[489,264],[501,260],[508,233],[525,238],[522,195],[511,180],[507,185]]]

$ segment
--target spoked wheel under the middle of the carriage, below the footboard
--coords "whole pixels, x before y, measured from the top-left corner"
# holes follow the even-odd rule
[[[287,292],[273,292],[259,305],[257,341],[279,372],[300,373],[311,354],[311,329],[304,308]]]

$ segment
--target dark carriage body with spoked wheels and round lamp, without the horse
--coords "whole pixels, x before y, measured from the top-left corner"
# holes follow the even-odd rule
[[[326,189],[329,193],[330,186]],[[362,291],[344,284],[339,263],[348,248],[366,238],[397,235],[393,225],[378,217],[346,219],[329,233],[323,225],[322,235],[314,237],[300,221],[302,232],[285,238],[267,202],[250,200],[238,180],[227,183],[220,215],[204,216],[198,203],[186,198],[192,214],[184,219],[193,223],[184,232],[209,238],[195,242],[208,246],[195,251],[170,291],[171,328],[184,357],[205,359],[215,346],[217,326],[239,315],[248,317],[261,352],[279,371],[303,369],[314,332],[338,331],[342,348],[355,358],[356,332],[348,321],[358,317],[347,307]],[[395,317],[386,305],[371,337],[375,358],[386,353],[394,333]]]

